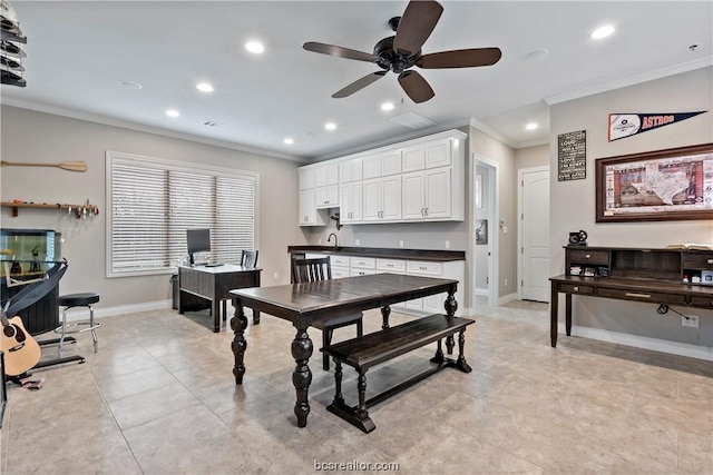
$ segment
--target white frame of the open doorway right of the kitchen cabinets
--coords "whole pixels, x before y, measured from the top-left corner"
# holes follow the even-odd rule
[[[468,241],[469,249],[471,251],[471,264],[470,264],[470,273],[469,273],[469,281],[470,281],[470,294],[471,294],[471,303],[472,307],[476,307],[476,196],[472,192],[476,188],[476,166],[482,166],[488,168],[488,180],[489,180],[489,194],[486,199],[486,202],[491,204],[488,207],[488,248],[490,251],[490,259],[488,259],[488,306],[495,307],[498,305],[498,295],[499,295],[499,226],[496,217],[499,216],[499,205],[498,197],[500,196],[500,187],[499,187],[499,165],[497,161],[491,160],[481,155],[477,155],[476,152],[470,154],[470,226],[468,229]]]

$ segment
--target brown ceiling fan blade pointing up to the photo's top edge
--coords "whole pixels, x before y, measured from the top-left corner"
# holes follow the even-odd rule
[[[399,21],[393,49],[407,56],[419,52],[442,12],[443,7],[434,0],[410,1]]]

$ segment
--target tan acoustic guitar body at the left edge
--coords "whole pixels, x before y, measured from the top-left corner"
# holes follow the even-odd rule
[[[32,369],[42,356],[39,344],[27,333],[20,317],[3,323],[0,349],[4,353],[4,374],[8,376],[18,376]]]

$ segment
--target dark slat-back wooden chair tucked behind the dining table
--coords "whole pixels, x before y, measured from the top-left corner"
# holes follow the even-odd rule
[[[318,258],[295,258],[292,259],[292,280],[295,284],[312,283],[315,280],[329,280],[332,278],[332,265],[330,256]],[[356,325],[356,336],[364,334],[363,314],[342,315],[323,321],[315,321],[314,327],[322,330],[322,346],[326,347],[332,343],[332,335],[335,328]],[[330,369],[330,356],[322,356],[322,367]]]

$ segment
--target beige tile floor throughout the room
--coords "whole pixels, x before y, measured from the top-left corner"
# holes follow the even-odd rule
[[[446,369],[373,407],[371,434],[325,410],[333,376],[321,354],[309,424],[296,427],[285,321],[251,324],[235,386],[232,333],[213,334],[206,314],[104,318],[99,353],[88,334],[66,350],[86,364],[36,370],[40,390],[9,387],[0,473],[309,474],[328,463],[394,463],[402,474],[713,473],[711,363],[574,337],[553,349],[543,304],[480,307],[476,318],[466,333],[473,372]],[[379,325],[369,313],[367,329]],[[370,393],[422,370],[432,350],[370,370]]]

